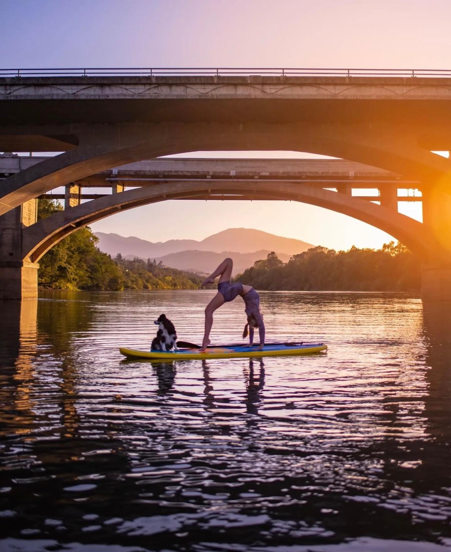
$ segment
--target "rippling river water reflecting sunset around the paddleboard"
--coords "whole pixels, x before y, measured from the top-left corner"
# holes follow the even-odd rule
[[[214,292],[0,302],[0,551],[451,547],[451,312],[390,293],[263,292],[305,357],[123,360],[161,312],[200,342]],[[213,343],[240,341],[238,298]]]

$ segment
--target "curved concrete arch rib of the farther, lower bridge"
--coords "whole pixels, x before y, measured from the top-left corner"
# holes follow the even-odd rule
[[[36,263],[70,233],[125,209],[169,199],[203,199],[205,195],[245,195],[256,199],[293,200],[323,207],[367,222],[389,233],[426,261],[432,237],[421,222],[401,215],[371,201],[314,188],[304,183],[280,182],[171,182],[106,195],[51,215],[25,228],[22,237],[22,260]]]

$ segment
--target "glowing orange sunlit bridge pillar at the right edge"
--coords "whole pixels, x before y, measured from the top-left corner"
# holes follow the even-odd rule
[[[423,298],[451,300],[451,194],[444,185],[423,193],[423,224],[438,242],[436,252],[422,270]]]

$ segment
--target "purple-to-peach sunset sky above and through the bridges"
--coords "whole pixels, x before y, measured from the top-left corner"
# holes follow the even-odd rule
[[[450,68],[449,0],[2,0],[0,9],[2,67]],[[402,205],[418,215],[418,205]],[[92,225],[150,241],[229,227],[337,249],[390,240],[344,215],[270,201],[172,201]]]

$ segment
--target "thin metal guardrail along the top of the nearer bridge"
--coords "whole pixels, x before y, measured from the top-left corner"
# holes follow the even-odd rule
[[[347,69],[294,67],[91,67],[0,69],[0,77],[451,77],[451,69]]]

